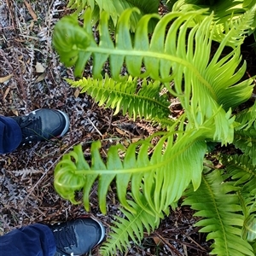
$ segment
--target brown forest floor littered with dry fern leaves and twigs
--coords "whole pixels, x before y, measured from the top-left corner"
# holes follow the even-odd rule
[[[65,78],[73,78],[73,69],[64,67],[51,45],[55,22],[69,11],[63,1],[0,0],[0,114],[23,115],[37,108],[57,108],[70,117],[70,129],[61,140],[35,143],[0,156],[0,235],[32,223],[49,224],[80,215],[92,214],[106,226],[119,215],[119,201],[108,193],[108,214],[97,205],[96,189],[91,191],[90,212],[83,205],[61,199],[53,188],[53,172],[63,154],[82,143],[90,158],[90,144],[102,142],[102,154],[110,145],[128,145],[157,130],[145,120],[133,121],[99,108],[90,96],[79,94]],[[255,54],[248,46],[244,58],[247,75],[256,72]],[[84,73],[90,75],[90,64]],[[253,73],[254,72],[254,73]],[[189,207],[178,207],[146,235],[141,245],[131,243],[119,255],[208,255],[211,241],[194,227],[196,218]],[[96,248],[91,255],[99,255]]]

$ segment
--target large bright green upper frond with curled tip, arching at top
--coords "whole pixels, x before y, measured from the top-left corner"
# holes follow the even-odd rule
[[[212,15],[207,16],[200,25],[191,30],[190,20],[201,15],[203,11],[168,14],[160,19],[149,41],[148,20],[159,16],[144,15],[137,25],[133,40],[129,30],[129,18],[134,11],[137,9],[126,9],[120,16],[115,44],[108,31],[106,13],[102,12],[100,20],[99,44],[96,44],[91,30],[90,9],[87,9],[84,15],[84,28],[79,26],[74,17],[64,17],[55,26],[53,37],[61,61],[67,66],[75,65],[75,73],[80,75],[86,61],[93,55],[93,74],[96,78],[101,78],[102,65],[109,58],[111,73],[115,80],[119,80],[119,72],[125,62],[131,76],[150,76],[152,79],[165,82],[166,88],[179,96],[183,108],[188,113],[189,121],[195,127],[199,127],[214,115],[215,121],[212,125],[216,125],[216,132],[213,139],[231,143],[232,122],[228,121],[227,113],[220,106],[223,105],[224,109],[228,110],[246,101],[252,93],[253,83],[251,79],[236,84],[246,68],[245,64],[238,68],[241,61],[238,47],[230,55],[220,58],[225,44],[230,38],[239,37],[239,32],[228,32],[210,61]],[[166,27],[170,23],[172,25],[166,34]],[[141,72],[143,66],[145,71]],[[174,89],[167,83],[172,79]],[[236,98],[232,97],[231,101],[230,95]]]

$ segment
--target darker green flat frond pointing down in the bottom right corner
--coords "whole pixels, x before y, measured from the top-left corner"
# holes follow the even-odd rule
[[[253,256],[251,245],[241,239],[241,227],[244,217],[236,193],[236,186],[226,182],[224,171],[214,170],[202,177],[201,186],[194,191],[189,188],[185,193],[183,205],[189,205],[203,217],[196,226],[202,226],[201,232],[209,233],[207,240],[213,239],[211,254]]]

